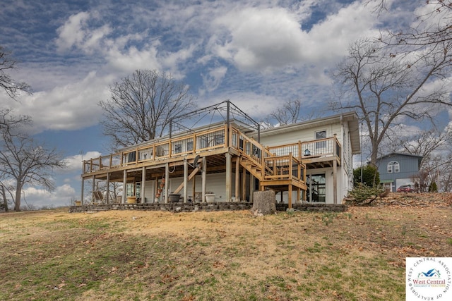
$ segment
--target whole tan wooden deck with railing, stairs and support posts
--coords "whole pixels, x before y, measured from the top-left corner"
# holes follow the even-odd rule
[[[194,162],[195,159],[198,159],[197,162]],[[197,166],[194,166],[195,163]],[[236,175],[234,195],[244,199],[246,188],[244,184],[240,185],[241,180],[242,183],[244,180],[239,178],[239,174],[258,179],[260,190],[292,192],[295,189],[300,192],[307,190],[307,167],[334,168],[337,165],[340,165],[340,144],[336,137],[264,147],[242,133],[238,126],[224,124],[208,130],[153,140],[126,148],[122,152],[85,160],[81,176],[82,190],[84,180],[89,179],[93,180],[93,191],[95,180],[121,182],[125,186],[126,183],[145,183],[158,178],[165,178],[166,183],[169,178],[184,178],[182,188],[185,188],[191,180],[189,173],[199,172],[203,175],[204,197],[206,174],[225,173],[225,201],[230,201],[232,172]],[[167,186],[165,192],[168,192]],[[291,198],[292,194],[289,195]]]

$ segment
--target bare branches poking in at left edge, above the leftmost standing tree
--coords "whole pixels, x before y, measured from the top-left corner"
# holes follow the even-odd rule
[[[11,52],[0,46],[0,87],[9,97],[16,98],[20,91],[30,93],[30,86],[25,82],[13,80],[8,71],[16,68],[16,61],[11,58]]]

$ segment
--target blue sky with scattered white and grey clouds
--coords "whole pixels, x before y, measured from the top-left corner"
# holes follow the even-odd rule
[[[348,45],[410,24],[416,8],[398,4],[377,18],[363,2],[1,0],[0,45],[18,61],[10,75],[33,94],[0,94],[0,104],[32,116],[36,137],[70,162],[57,190],[28,188],[27,202],[80,197],[82,157],[107,153],[97,103],[136,69],[171,73],[199,106],[230,99],[256,120],[290,99],[302,99],[306,115],[331,114],[330,74]]]

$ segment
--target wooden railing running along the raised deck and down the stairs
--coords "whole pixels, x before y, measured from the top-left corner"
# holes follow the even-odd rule
[[[242,156],[246,156],[247,159],[253,161],[256,165],[265,166],[266,169],[263,172],[263,176],[283,176],[286,173],[295,177],[297,175],[302,176],[304,167],[302,167],[302,171],[299,171],[292,166],[299,164],[299,161],[304,158],[333,155],[340,158],[340,144],[336,137],[278,147],[263,147],[256,140],[241,133],[237,128],[230,126],[228,131],[227,125],[222,125],[198,133],[188,133],[183,137],[175,137],[161,142],[157,141],[153,144],[137,146],[124,152],[85,160],[83,161],[83,173],[93,173],[110,168],[141,164],[147,161],[186,156],[222,147],[234,147],[242,153]],[[284,168],[276,168],[277,166],[287,166],[287,171]]]

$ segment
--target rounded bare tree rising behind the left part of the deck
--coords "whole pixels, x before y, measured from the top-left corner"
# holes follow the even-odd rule
[[[156,70],[136,70],[110,87],[101,101],[104,134],[114,147],[124,147],[162,136],[172,118],[194,108],[187,85]]]

